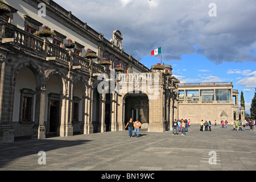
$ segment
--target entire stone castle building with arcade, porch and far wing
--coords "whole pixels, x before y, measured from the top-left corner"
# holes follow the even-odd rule
[[[163,132],[164,119],[197,121],[207,115],[200,112],[204,106],[207,111],[215,108],[213,118],[220,119],[220,111],[228,118],[236,111],[237,117],[238,105],[232,98],[228,103],[218,102],[215,95],[212,103],[201,100],[208,93],[203,89],[212,88],[198,85],[189,88],[201,89],[197,96],[182,96],[180,89],[187,90],[188,85],[179,85],[178,90],[163,71],[148,69],[127,54],[119,30],[106,40],[52,0],[8,0],[6,5],[10,13],[0,16],[0,143],[21,136],[44,139],[48,134],[122,131],[130,118],[139,119],[148,131]],[[42,8],[46,16],[39,15]],[[35,36],[43,26],[55,36]],[[68,39],[75,42],[74,48],[64,47]],[[84,57],[87,52],[97,58]],[[101,65],[102,58],[109,64]],[[122,73],[114,72],[119,65]],[[172,71],[170,65],[164,69]],[[232,85],[225,86],[230,97],[238,95]],[[194,106],[199,116],[192,115]]]

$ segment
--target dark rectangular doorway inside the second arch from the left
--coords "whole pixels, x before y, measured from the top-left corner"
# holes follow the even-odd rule
[[[59,124],[59,101],[51,100],[50,115],[49,115],[49,132],[57,132]]]

